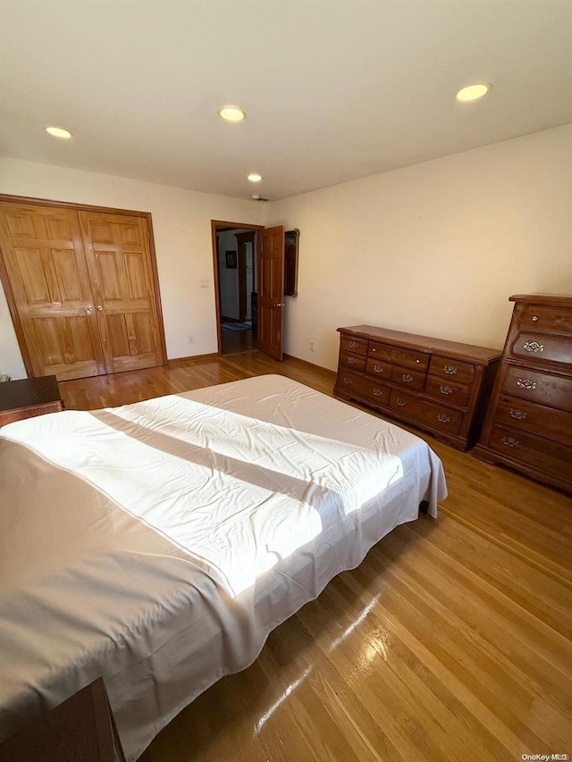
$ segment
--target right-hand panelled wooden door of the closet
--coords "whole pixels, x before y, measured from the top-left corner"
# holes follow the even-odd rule
[[[108,373],[162,364],[147,223],[80,212]]]

